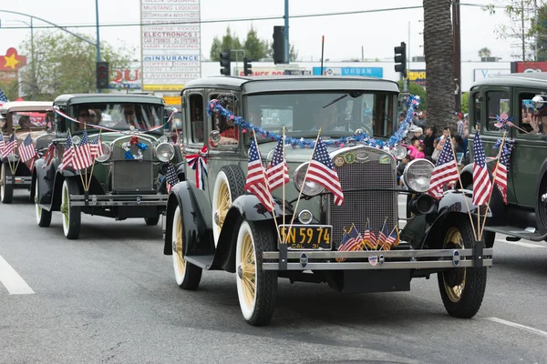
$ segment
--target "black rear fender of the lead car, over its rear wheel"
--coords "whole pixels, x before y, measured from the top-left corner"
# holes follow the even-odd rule
[[[203,192],[195,189],[190,183],[183,181],[171,190],[166,210],[167,221],[163,246],[165,255],[172,255],[172,216],[177,206],[181,207],[183,255],[212,255],[214,252],[211,203]]]

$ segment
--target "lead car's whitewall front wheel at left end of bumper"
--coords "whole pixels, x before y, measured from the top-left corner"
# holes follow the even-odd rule
[[[253,326],[267,325],[274,316],[277,272],[262,268],[263,252],[273,251],[274,245],[269,227],[243,221],[235,252],[237,297],[243,318]]]

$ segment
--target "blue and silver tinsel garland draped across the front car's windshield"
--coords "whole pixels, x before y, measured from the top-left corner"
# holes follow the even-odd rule
[[[323,143],[327,147],[344,147],[346,143],[359,143],[359,144],[365,144],[369,147],[377,147],[378,149],[390,149],[393,147],[397,147],[397,144],[400,143],[400,141],[403,139],[404,136],[406,136],[408,131],[408,126],[410,126],[410,123],[412,121],[412,116],[414,116],[414,112],[416,109],[418,109],[419,106],[419,96],[407,96],[405,97],[405,101],[408,106],[407,110],[407,116],[405,117],[405,120],[401,123],[401,125],[398,127],[397,131],[390,136],[386,141],[381,139],[375,139],[372,136],[368,136],[366,133],[356,133],[353,136],[346,136],[346,137],[340,137],[338,139],[329,139],[324,140]],[[212,113],[218,113],[227,119],[231,120],[234,125],[240,126],[243,130],[243,133],[246,131],[254,131],[254,133],[258,136],[262,136],[264,138],[270,138],[275,141],[279,141],[282,139],[283,136],[280,134],[274,133],[272,131],[263,129],[260,126],[255,126],[253,123],[246,121],[243,119],[242,116],[236,116],[232,113],[232,111],[227,110],[225,107],[221,105],[221,102],[217,99],[212,99],[209,102],[209,107],[207,108],[207,114],[211,117]],[[305,139],[304,137],[295,138],[290,136],[285,136],[286,143],[289,144],[292,147],[301,147],[301,148],[313,148],[315,147],[315,139]]]

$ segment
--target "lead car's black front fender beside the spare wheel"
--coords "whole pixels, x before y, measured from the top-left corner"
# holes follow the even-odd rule
[[[282,201],[274,197],[274,213],[278,225],[283,223],[283,204]],[[293,217],[293,209],[285,204],[285,222],[290,223]],[[224,225],[222,226],[219,243],[217,245],[212,267],[222,268],[228,272],[235,272],[235,249],[237,246],[237,234],[243,219],[253,222],[268,221],[273,228],[273,234],[276,234],[274,217],[260,203],[258,197],[254,195],[242,195],[237,197],[232,207],[228,210]]]

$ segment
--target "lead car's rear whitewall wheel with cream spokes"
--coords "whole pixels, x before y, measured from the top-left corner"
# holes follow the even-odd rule
[[[196,289],[201,281],[201,268],[188,263],[184,259],[184,230],[181,217],[181,207],[177,207],[173,214],[173,229],[171,231],[175,280],[182,289]]]

